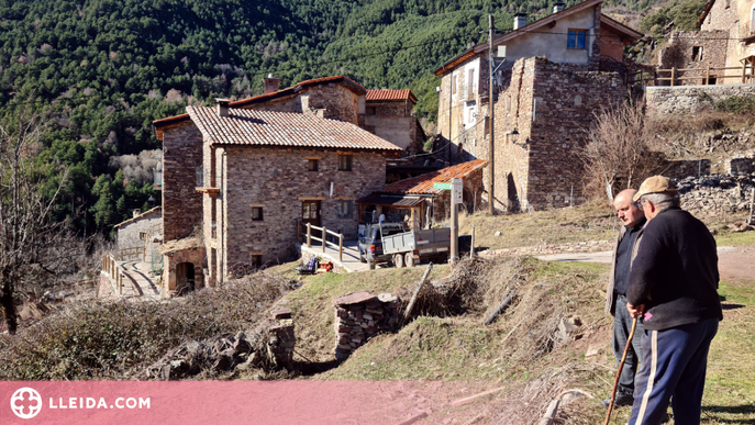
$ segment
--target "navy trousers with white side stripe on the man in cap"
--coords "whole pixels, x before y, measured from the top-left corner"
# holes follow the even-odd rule
[[[700,424],[708,349],[718,329],[718,318],[711,318],[664,331],[643,332],[645,362],[637,373],[631,425],[660,424],[671,395],[674,423]]]

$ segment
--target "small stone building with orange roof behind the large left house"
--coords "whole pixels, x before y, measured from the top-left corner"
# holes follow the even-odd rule
[[[404,149],[422,152],[424,130],[412,113],[417,98],[411,90],[367,90],[364,128]]]

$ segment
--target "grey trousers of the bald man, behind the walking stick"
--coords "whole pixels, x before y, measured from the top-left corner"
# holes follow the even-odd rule
[[[613,316],[613,356],[617,358],[617,367],[621,362],[621,357],[624,355],[624,347],[626,347],[626,339],[632,331],[632,316],[626,310],[626,299],[619,297],[617,299],[617,311]],[[626,361],[624,368],[621,370],[619,377],[619,391],[633,394],[634,393],[634,374],[637,372],[639,365],[642,362],[642,346],[640,344],[640,336],[643,334],[644,326],[642,317],[637,320],[637,328],[634,331],[634,338],[632,338],[632,346],[626,353]]]

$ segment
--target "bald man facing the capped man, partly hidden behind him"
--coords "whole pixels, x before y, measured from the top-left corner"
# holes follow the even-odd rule
[[[637,246],[645,226],[645,213],[632,200],[637,191],[634,189],[622,190],[613,200],[619,220],[624,224],[619,232],[619,237],[613,247],[611,260],[611,275],[606,290],[606,313],[613,316],[613,355],[617,364],[621,361],[624,347],[632,328],[632,316],[626,310],[626,288],[629,287],[630,268],[637,254]],[[640,335],[643,331],[642,320],[635,331]],[[626,353],[624,368],[619,378],[619,389],[614,401],[618,406],[632,405],[634,402],[634,374],[642,362],[642,348],[640,338],[632,339],[632,346]],[[611,399],[603,400],[600,404],[608,407]]]

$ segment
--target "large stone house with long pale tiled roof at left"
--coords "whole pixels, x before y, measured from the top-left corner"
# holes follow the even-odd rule
[[[214,286],[236,265],[289,257],[298,222],[355,238],[354,201],[384,184],[386,156],[402,149],[321,113],[229,103],[188,107],[188,120],[156,123],[165,150],[166,245],[185,239],[188,248],[203,251],[196,269]],[[192,233],[200,235],[200,250],[189,241]],[[171,251],[181,256],[179,250]],[[198,261],[199,255],[192,258]],[[195,277],[198,281],[197,271]],[[178,280],[175,288],[182,284]]]

